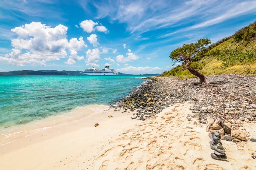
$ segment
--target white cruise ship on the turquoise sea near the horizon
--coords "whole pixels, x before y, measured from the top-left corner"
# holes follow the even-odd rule
[[[113,68],[109,68],[109,66],[106,66],[102,70],[99,70],[98,68],[87,68],[83,72],[81,72],[82,75],[87,76],[116,76],[118,75],[116,71],[114,71]]]

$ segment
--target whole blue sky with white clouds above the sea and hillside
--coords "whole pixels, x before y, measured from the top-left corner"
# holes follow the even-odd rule
[[[2,0],[0,71],[162,73],[175,48],[255,20],[255,0]]]

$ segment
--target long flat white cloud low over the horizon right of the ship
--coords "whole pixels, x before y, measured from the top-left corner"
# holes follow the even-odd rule
[[[145,67],[128,66],[128,67],[116,69],[116,71],[140,74],[140,73],[160,73],[161,69],[159,67],[153,68],[148,66],[145,66]]]

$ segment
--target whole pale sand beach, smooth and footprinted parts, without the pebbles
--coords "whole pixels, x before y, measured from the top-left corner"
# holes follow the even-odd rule
[[[4,170],[254,170],[256,142],[227,142],[227,161],[212,159],[205,124],[187,121],[177,104],[141,122],[133,113],[106,110],[0,146]],[[106,108],[107,109],[107,108]],[[109,118],[108,115],[113,117]],[[99,123],[98,127],[94,127]],[[245,123],[256,137],[256,123]]]

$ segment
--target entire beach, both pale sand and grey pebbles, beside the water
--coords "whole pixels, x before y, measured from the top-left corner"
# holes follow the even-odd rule
[[[256,108],[253,108],[256,77],[246,78],[244,82],[244,76],[209,76],[209,85],[198,85],[195,83],[198,79],[148,77],[146,79],[151,81],[120,99],[119,105],[107,106],[103,113],[38,131],[0,146],[0,150],[3,150],[0,161],[5,162],[6,169],[133,170],[147,166],[149,169],[168,169],[171,168],[169,165],[186,169],[191,164],[195,170],[256,168],[252,158],[256,152],[256,142],[249,140],[256,138]],[[154,98],[152,105],[148,105],[149,98]],[[247,142],[223,141],[227,148],[228,164],[210,157],[210,139],[205,130],[207,117],[218,116],[212,102],[223,104],[223,100],[228,110],[225,119],[247,132]],[[143,105],[141,102],[144,102]],[[113,117],[109,118],[109,115]],[[240,117],[247,119],[248,116],[253,119],[238,122]],[[95,123],[99,123],[99,126],[94,127]],[[193,133],[186,135],[189,131]],[[127,151],[124,153],[124,150]],[[123,153],[125,157],[118,156]],[[12,167],[15,165],[19,167]]]

